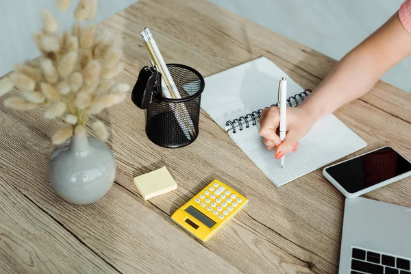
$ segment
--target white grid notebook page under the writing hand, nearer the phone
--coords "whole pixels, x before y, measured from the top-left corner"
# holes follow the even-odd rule
[[[299,140],[298,150],[286,155],[281,168],[274,151],[265,149],[259,130],[260,126],[255,125],[236,133],[229,131],[229,136],[275,186],[287,184],[366,146],[364,140],[331,114],[319,120]]]

